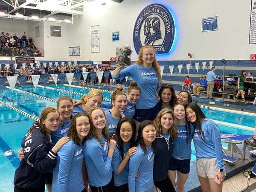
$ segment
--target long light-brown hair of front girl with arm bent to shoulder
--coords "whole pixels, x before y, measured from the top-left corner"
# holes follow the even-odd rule
[[[94,125],[93,125],[92,112],[93,112],[94,110],[96,110],[96,109],[101,110],[101,111],[103,112],[103,115],[105,116],[106,125],[105,125],[105,127],[103,128],[103,130],[102,130],[102,134],[103,134],[103,136],[106,138],[106,140],[109,141],[110,139],[109,139],[109,137],[108,137],[108,128],[107,128],[107,117],[106,117],[106,113],[105,113],[105,111],[103,111],[102,108],[99,108],[99,107],[97,107],[97,106],[93,106],[93,107],[91,107],[91,108],[87,111],[87,114],[88,114],[88,116],[89,116],[89,121],[90,121],[90,123],[91,123],[91,125],[92,125],[92,126],[91,126],[91,133],[92,133],[92,136],[95,137],[96,140],[98,140],[100,143],[102,143],[102,140],[100,139],[99,134],[97,133],[97,131],[95,130],[96,128],[95,128]],[[90,137],[90,139],[91,139],[91,138],[92,138],[92,137]]]

